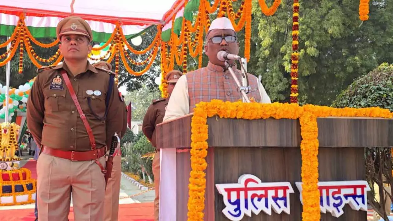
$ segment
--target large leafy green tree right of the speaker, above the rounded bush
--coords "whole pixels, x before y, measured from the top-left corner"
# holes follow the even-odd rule
[[[273,0],[266,2],[270,5]],[[300,2],[301,102],[330,105],[354,78],[393,59],[393,5],[370,1],[370,18],[363,24],[358,10],[358,0]],[[273,101],[288,101],[292,1],[282,1],[275,15],[266,17],[254,0],[252,23],[259,32],[252,34],[257,51],[250,66],[262,74]]]

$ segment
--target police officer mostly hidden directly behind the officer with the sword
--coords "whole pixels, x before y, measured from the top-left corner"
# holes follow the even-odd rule
[[[112,65],[105,61],[93,64],[94,67],[112,70]],[[126,108],[126,107],[125,107]],[[127,116],[123,116],[127,119]],[[125,127],[124,127],[125,126]],[[123,125],[122,134],[127,130],[127,124]],[[118,151],[118,152],[116,152]],[[105,190],[104,221],[118,221],[119,219],[119,196],[121,180],[121,150],[116,150],[113,157],[112,176],[109,178]]]

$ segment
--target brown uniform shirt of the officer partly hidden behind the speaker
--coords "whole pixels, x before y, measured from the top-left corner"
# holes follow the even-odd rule
[[[142,131],[150,140],[151,144],[156,147],[156,125],[162,123],[165,115],[165,109],[168,105],[168,99],[157,99],[149,106],[143,118]]]

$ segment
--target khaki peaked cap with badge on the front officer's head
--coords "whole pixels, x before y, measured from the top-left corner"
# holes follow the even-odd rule
[[[62,35],[84,35],[90,41],[93,39],[92,29],[89,24],[80,17],[66,17],[63,18],[56,27],[57,38],[60,39]]]

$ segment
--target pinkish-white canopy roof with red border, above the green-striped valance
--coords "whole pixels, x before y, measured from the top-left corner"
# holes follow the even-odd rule
[[[34,17],[67,17],[125,25],[166,24],[185,0],[10,0],[0,3],[0,13]]]

